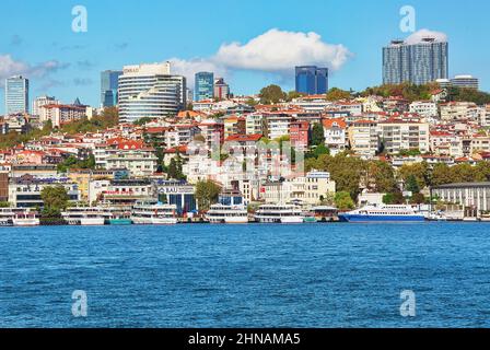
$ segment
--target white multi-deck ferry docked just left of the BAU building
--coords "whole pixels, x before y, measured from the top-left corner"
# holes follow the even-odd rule
[[[132,207],[131,221],[137,225],[173,225],[177,223],[177,206],[140,201]]]

